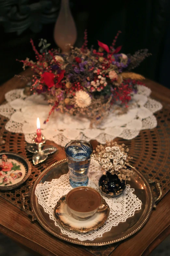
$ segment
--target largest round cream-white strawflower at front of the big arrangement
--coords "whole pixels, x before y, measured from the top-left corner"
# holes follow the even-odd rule
[[[80,108],[86,108],[92,102],[91,97],[85,91],[78,91],[78,92],[76,92],[75,100],[76,100],[76,104]]]

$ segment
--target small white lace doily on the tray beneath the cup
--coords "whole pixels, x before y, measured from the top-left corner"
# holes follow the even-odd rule
[[[91,160],[89,169],[88,186],[99,191],[98,181],[102,175],[100,164]],[[109,198],[103,196],[110,207],[110,213],[107,221],[102,228],[87,233],[78,233],[70,231],[61,226],[54,217],[54,207],[57,201],[66,195],[72,189],[69,182],[69,173],[62,175],[59,179],[45,181],[36,186],[35,195],[38,197],[38,203],[43,207],[44,211],[50,215],[50,219],[55,221],[55,225],[61,229],[61,232],[70,238],[78,238],[81,241],[93,240],[96,237],[102,237],[104,232],[111,230],[112,226],[117,226],[120,222],[125,222],[127,218],[133,216],[135,211],[141,209],[142,202],[133,194],[134,188],[127,185],[122,195],[117,198]]]

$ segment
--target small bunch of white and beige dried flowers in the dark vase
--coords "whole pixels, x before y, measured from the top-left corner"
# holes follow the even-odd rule
[[[126,167],[126,163],[133,157],[129,157],[126,152],[129,151],[129,148],[124,144],[118,145],[117,142],[106,141],[105,145],[98,145],[96,150],[93,150],[94,159],[97,160],[104,171],[110,172],[111,174],[118,174],[118,177],[121,180],[130,180],[130,176],[133,174],[133,171]]]

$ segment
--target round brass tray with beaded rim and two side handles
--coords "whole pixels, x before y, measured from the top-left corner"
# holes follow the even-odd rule
[[[156,207],[155,200],[151,193],[149,181],[139,171],[134,170],[133,177],[127,183],[131,185],[131,188],[135,188],[135,195],[142,201],[142,209],[136,211],[135,215],[129,217],[126,222],[119,223],[118,226],[112,227],[112,229],[108,232],[105,232],[102,237],[95,238],[93,241],[80,241],[78,239],[71,239],[64,235],[59,227],[55,226],[54,221],[50,220],[49,214],[44,212],[43,207],[38,204],[38,199],[35,196],[35,188],[37,184],[44,183],[45,181],[51,181],[52,179],[58,179],[61,175],[67,172],[68,165],[66,159],[55,162],[39,175],[39,177],[35,180],[35,183],[30,192],[22,194],[23,208],[25,196],[30,196],[32,211],[25,211],[32,216],[32,221],[37,220],[45,230],[65,241],[85,246],[100,246],[116,243],[137,232],[149,219],[152,208]],[[150,182],[154,181],[150,180]],[[160,188],[159,184],[157,184],[157,187]],[[160,196],[156,199],[156,201],[159,200],[160,197],[161,190]]]

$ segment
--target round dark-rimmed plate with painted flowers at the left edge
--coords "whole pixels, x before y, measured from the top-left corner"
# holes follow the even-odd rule
[[[20,186],[31,173],[31,164],[23,156],[10,152],[0,153],[0,190]]]

